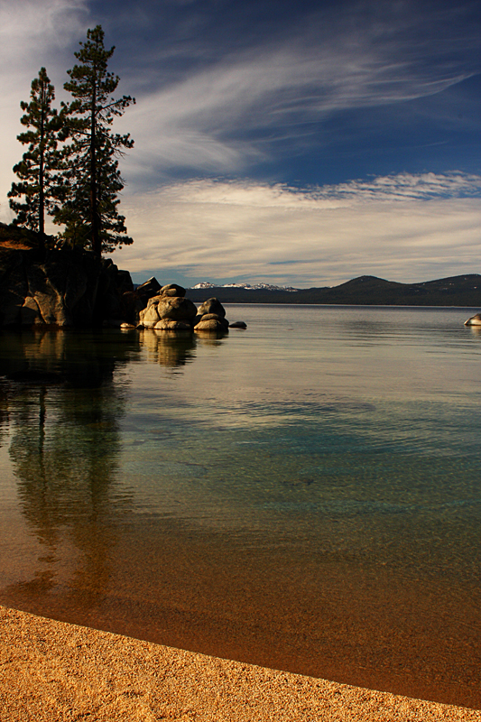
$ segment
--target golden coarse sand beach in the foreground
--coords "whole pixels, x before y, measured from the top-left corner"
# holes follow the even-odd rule
[[[1,722],[440,722],[481,711],[365,690],[0,606]]]

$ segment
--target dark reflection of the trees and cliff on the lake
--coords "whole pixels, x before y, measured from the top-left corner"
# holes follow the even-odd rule
[[[105,594],[129,508],[115,491],[126,391],[116,376],[138,350],[136,334],[3,334],[9,453],[20,508],[42,545],[31,579],[4,590],[10,603],[48,608],[46,597],[61,593],[66,605],[91,608]]]

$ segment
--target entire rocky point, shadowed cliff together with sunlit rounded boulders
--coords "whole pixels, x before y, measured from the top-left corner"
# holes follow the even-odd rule
[[[79,247],[29,247],[10,238],[11,227],[0,224],[0,231],[0,328],[229,328],[217,299],[204,301],[198,310],[176,283],[161,286],[150,278],[134,288],[130,273],[110,259],[99,260]]]

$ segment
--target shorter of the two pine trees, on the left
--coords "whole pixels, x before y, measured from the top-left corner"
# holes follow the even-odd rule
[[[55,90],[45,68],[32,80],[30,103],[22,101],[25,112],[20,122],[28,130],[17,135],[20,143],[29,143],[21,162],[14,166],[19,182],[12,183],[8,193],[10,208],[17,217],[15,226],[30,228],[39,234],[45,244],[45,213],[53,215],[63,196],[61,181],[61,153],[57,150],[62,125],[62,114],[51,104]]]

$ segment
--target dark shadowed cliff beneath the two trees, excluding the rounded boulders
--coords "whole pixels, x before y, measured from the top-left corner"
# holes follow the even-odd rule
[[[130,274],[79,248],[0,245],[0,326],[82,327],[124,319]]]

